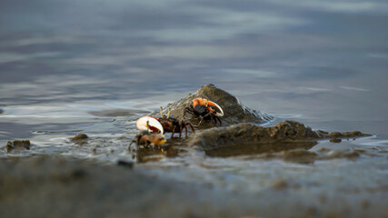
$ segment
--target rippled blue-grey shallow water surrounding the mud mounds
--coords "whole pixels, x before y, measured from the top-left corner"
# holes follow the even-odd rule
[[[285,180],[312,192],[380,190],[388,179],[388,5],[384,1],[17,1],[0,4],[0,144],[111,164],[135,120],[203,84],[325,131],[373,137],[320,148],[365,151],[314,163],[256,154],[210,157],[175,140],[174,157],[136,169],[159,178],[260,192]],[[174,10],[172,10],[174,8]],[[88,144],[69,139],[90,136]],[[372,192],[372,191],[371,191]],[[335,193],[328,193],[335,194]]]

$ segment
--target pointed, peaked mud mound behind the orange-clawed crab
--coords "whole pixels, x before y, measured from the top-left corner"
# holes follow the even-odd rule
[[[171,116],[177,119],[184,119],[192,124],[195,127],[198,124],[199,120],[195,117],[192,117],[191,114],[186,114],[184,118],[184,109],[192,103],[194,98],[203,97],[210,101],[213,101],[216,104],[219,104],[224,110],[224,116],[220,117],[223,122],[223,126],[229,126],[232,124],[240,123],[253,123],[253,124],[263,124],[268,120],[274,119],[272,116],[262,114],[255,110],[252,110],[240,102],[234,95],[225,92],[224,90],[217,88],[214,84],[205,84],[200,89],[194,92],[194,94],[188,94],[185,98],[174,102],[173,104],[167,104],[163,109],[163,113],[167,114],[167,109],[171,110]],[[160,112],[155,111],[153,116],[159,117]],[[201,124],[200,128],[209,127],[206,124]]]

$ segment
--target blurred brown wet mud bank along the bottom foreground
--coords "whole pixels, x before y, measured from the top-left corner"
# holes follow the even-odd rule
[[[256,194],[62,158],[0,164],[2,217],[386,217],[386,190],[316,192],[276,179]],[[363,194],[360,194],[362,192]]]

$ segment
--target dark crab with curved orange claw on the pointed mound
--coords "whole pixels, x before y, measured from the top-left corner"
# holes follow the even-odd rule
[[[216,112],[211,106],[218,108],[221,114]],[[184,115],[186,112],[201,119],[198,125],[203,120],[210,120],[214,125],[217,124],[217,121],[220,122],[220,125],[223,124],[220,119],[220,116],[224,115],[223,109],[218,104],[204,98],[195,98],[190,107],[184,109]]]

